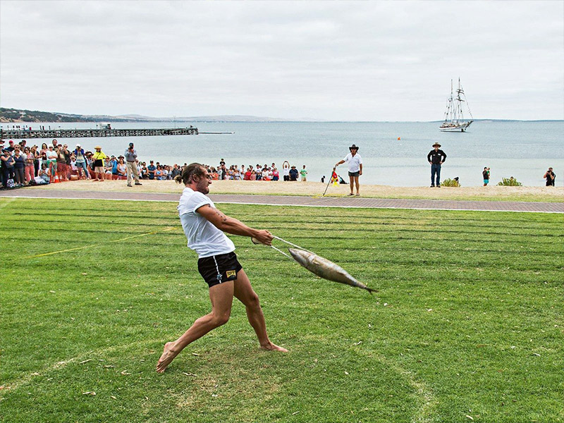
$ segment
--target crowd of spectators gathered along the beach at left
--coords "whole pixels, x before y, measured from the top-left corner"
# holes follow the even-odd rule
[[[52,140],[48,145],[43,143],[27,146],[26,140],[19,143],[0,140],[0,182],[2,188],[19,188],[28,185],[59,183],[68,180],[125,180],[127,167],[125,157],[106,156],[102,148],[96,146],[94,152],[85,151],[80,144],[71,149],[66,144]],[[136,160],[140,178],[147,180],[171,180],[180,175],[185,166],[156,163],[153,160]],[[102,165],[102,166],[100,166]],[[282,165],[282,173],[276,164],[271,166],[257,164],[227,165],[221,159],[218,166],[206,166],[214,180],[306,180],[305,166],[298,172],[288,161]]]

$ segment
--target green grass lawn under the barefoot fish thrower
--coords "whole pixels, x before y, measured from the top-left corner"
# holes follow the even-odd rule
[[[2,198],[0,421],[564,422],[562,215],[221,209],[379,292],[232,237],[290,353],[235,300],[157,374],[210,308],[176,204]]]

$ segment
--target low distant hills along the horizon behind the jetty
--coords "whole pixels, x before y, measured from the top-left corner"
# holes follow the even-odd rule
[[[0,122],[315,122],[315,119],[282,119],[262,116],[172,116],[154,118],[138,114],[119,116],[81,115],[49,111],[0,108]]]

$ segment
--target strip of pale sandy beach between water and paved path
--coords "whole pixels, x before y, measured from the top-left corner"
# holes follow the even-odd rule
[[[102,183],[78,180],[23,189],[178,193],[183,189],[181,185],[178,185],[173,180],[142,180],[142,184],[141,186],[128,188],[125,180],[104,180]],[[325,183],[320,182],[214,180],[210,187],[210,192],[213,194],[302,195],[314,197],[321,196],[326,186]],[[329,185],[326,196],[345,197],[348,195],[348,192],[348,185]],[[564,188],[560,187],[505,187],[489,185],[487,187],[429,188],[361,185],[360,194],[362,197],[372,198],[564,202]]]

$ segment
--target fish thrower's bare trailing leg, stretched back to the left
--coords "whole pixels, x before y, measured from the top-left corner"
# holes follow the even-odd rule
[[[212,312],[197,319],[188,331],[180,338],[164,345],[164,351],[157,362],[157,372],[162,373],[174,357],[182,351],[186,345],[202,338],[206,333],[216,327],[226,324],[231,315],[233,304],[233,281],[220,283],[209,288],[209,299],[212,300]]]

